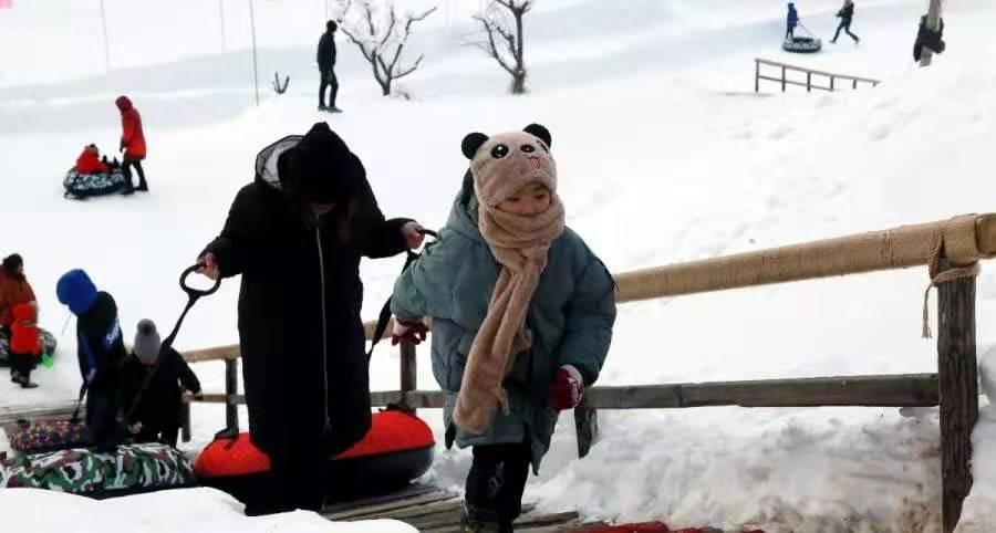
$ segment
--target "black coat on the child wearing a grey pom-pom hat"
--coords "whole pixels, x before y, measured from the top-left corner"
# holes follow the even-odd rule
[[[200,393],[200,382],[177,351],[166,347],[159,352],[159,357],[163,360],[158,363],[148,388],[142,394],[127,420],[129,425],[141,421],[143,426],[149,428],[177,428],[183,421],[180,384],[194,394]],[[127,358],[121,370],[121,406],[126,411],[132,408],[135,396],[152,368],[138,360],[134,354]]]

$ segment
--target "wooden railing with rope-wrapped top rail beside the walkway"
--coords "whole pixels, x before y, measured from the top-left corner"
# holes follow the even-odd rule
[[[971,268],[994,255],[996,215],[969,215],[620,274],[615,276],[619,303],[931,264],[935,273],[954,274],[948,275],[954,279],[937,281],[937,374],[593,387],[574,409],[578,452],[585,456],[598,433],[598,409],[940,405],[942,516],[944,531],[953,531],[972,487],[971,436],[978,415]],[[365,326],[370,338],[374,323]],[[238,346],[188,352],[185,358],[225,360],[226,393],[207,394],[204,401],[226,404],[228,428],[237,429],[237,407],[245,403],[237,389]],[[418,390],[416,364],[415,346],[403,344],[400,390],[371,393],[372,405],[413,410],[443,407],[443,391]]]

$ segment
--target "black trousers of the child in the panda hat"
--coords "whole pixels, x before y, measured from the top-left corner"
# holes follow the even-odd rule
[[[531,459],[528,438],[513,445],[475,446],[467,474],[467,520],[497,523],[501,531],[512,531],[512,522],[522,512]]]

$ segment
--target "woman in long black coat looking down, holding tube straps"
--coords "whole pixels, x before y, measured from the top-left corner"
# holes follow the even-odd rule
[[[257,156],[256,179],[199,259],[209,278],[242,275],[249,429],[274,481],[247,514],[319,510],[326,458],[370,430],[360,258],[417,248],[419,229],[384,219],[360,158],[325,123]]]

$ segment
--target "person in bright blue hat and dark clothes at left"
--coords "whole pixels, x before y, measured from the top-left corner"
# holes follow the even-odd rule
[[[62,274],[55,284],[59,302],[76,316],[76,356],[86,390],[86,436],[98,450],[121,442],[118,431],[120,372],[127,352],[117,321],[117,304],[97,291],[83,270]]]

